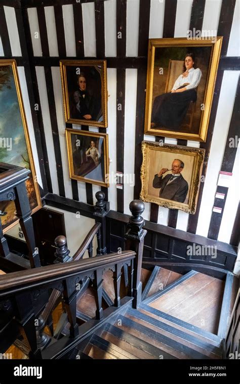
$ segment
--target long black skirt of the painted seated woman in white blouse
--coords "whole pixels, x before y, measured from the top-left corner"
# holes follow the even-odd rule
[[[177,93],[163,93],[154,99],[151,123],[175,130],[179,129],[190,102],[195,101],[195,89],[187,89]]]

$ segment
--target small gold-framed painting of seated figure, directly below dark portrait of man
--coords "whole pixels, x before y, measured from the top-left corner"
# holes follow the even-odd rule
[[[108,135],[66,129],[70,178],[109,186]]]

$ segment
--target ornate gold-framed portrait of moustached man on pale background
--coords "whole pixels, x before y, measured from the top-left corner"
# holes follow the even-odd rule
[[[195,213],[204,149],[142,142],[143,201]]]

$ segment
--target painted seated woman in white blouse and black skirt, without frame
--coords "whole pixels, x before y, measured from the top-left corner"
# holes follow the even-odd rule
[[[187,53],[182,73],[176,79],[172,90],[157,95],[151,113],[151,128],[166,127],[179,130],[191,102],[197,100],[197,86],[202,78],[193,53]]]

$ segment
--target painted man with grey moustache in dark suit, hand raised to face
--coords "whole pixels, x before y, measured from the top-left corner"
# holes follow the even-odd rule
[[[183,161],[175,159],[171,169],[162,168],[155,174],[152,186],[153,188],[160,188],[159,198],[184,203],[187,197],[188,183],[181,175],[183,168]],[[163,177],[168,171],[172,171],[172,173]]]

